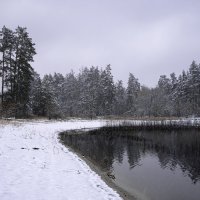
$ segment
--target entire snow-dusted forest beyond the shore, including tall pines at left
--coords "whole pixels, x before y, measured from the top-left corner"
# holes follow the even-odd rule
[[[26,28],[0,31],[0,117],[182,117],[200,116],[200,65],[178,77],[160,76],[155,88],[132,73],[127,87],[113,80],[111,66],[85,67],[43,78],[32,68],[36,54]]]

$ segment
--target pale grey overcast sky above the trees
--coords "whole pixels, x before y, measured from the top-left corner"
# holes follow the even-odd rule
[[[155,86],[200,62],[199,0],[0,0],[0,27],[27,27],[36,71],[66,74],[111,64]]]

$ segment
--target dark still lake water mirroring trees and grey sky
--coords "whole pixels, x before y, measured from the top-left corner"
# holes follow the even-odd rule
[[[199,131],[116,131],[64,134],[62,141],[90,159],[138,199],[200,199]]]

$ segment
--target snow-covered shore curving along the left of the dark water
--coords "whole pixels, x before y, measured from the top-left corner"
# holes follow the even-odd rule
[[[101,121],[17,122],[0,125],[0,200],[121,199],[57,134]]]

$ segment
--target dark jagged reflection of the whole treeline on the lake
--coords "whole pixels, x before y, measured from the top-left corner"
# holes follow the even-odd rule
[[[158,156],[160,166],[175,170],[181,167],[193,183],[200,180],[200,133],[198,131],[112,131],[99,129],[88,134],[65,134],[62,139],[102,169],[110,170],[114,160],[123,162],[127,152],[130,168],[145,153]]]

